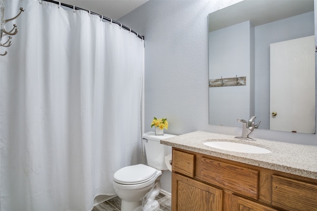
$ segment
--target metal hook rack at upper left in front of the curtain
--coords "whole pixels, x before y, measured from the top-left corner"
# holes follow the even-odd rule
[[[1,5],[1,6],[2,6],[2,5]],[[2,11],[2,10],[1,10],[1,11]],[[4,10],[3,10],[3,11],[4,11]],[[9,47],[9,46],[12,44],[12,42],[10,41],[10,40],[12,39],[11,36],[16,35],[16,34],[19,32],[19,30],[17,29],[17,25],[16,25],[16,24],[13,24],[13,28],[12,28],[10,31],[7,31],[7,30],[5,29],[5,24],[8,23],[8,22],[10,22],[10,21],[15,20],[17,17],[20,16],[20,14],[21,14],[23,11],[24,11],[24,8],[20,7],[20,12],[19,12],[16,16],[14,16],[13,18],[10,18],[10,19],[1,20],[0,46],[2,46],[2,47]],[[8,39],[7,39],[6,42],[3,42],[3,43],[2,43],[1,41],[2,41],[2,38],[3,38],[4,36],[8,36]],[[8,44],[7,44],[7,43],[8,43]],[[8,52],[5,51],[4,53],[0,53],[0,55],[1,55],[1,56],[4,56],[4,55],[6,55],[7,53],[8,53]]]

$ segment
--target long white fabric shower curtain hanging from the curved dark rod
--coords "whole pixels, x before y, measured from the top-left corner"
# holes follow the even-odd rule
[[[0,48],[0,211],[91,210],[141,160],[144,42],[46,1],[5,0],[5,19],[19,7]]]

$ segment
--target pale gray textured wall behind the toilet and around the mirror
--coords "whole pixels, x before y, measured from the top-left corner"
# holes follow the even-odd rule
[[[207,16],[238,1],[150,0],[118,20],[145,36],[145,132],[158,117],[167,118],[170,134],[241,134],[241,127],[210,126],[208,118]],[[256,130],[252,137],[317,145],[316,134]],[[170,174],[161,179],[168,192]]]

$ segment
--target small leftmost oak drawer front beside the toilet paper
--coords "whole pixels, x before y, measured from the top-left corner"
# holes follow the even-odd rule
[[[172,169],[179,173],[194,177],[195,155],[173,150]]]

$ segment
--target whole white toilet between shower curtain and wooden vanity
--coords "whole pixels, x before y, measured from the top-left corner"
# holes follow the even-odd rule
[[[143,134],[148,166],[138,164],[124,167],[113,174],[114,191],[120,197],[121,211],[157,211],[159,203],[155,198],[160,191],[162,170],[168,170],[165,157],[171,153],[171,147],[159,143],[159,140],[174,135],[155,135],[155,132]]]

